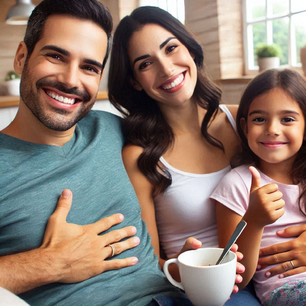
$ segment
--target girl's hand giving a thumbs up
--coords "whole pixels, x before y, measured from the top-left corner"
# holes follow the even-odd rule
[[[284,214],[285,201],[282,199],[283,194],[278,190],[276,184],[271,183],[261,187],[258,170],[252,166],[249,170],[252,174],[252,183],[250,202],[244,220],[264,227],[274,223]]]

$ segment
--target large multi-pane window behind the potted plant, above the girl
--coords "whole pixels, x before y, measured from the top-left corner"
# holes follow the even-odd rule
[[[305,0],[243,0],[246,73],[257,70],[255,50],[260,43],[277,44],[281,65],[300,66],[306,45]]]

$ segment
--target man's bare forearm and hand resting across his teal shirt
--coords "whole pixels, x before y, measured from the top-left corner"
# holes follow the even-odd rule
[[[53,282],[75,283],[108,270],[136,264],[136,257],[104,260],[114,254],[133,248],[138,237],[123,238],[136,233],[127,226],[99,235],[122,222],[123,215],[115,214],[93,224],[76,225],[66,222],[72,204],[72,192],[65,189],[50,216],[42,245],[28,252],[0,257],[0,286],[20,294]],[[121,242],[120,242],[121,241]]]

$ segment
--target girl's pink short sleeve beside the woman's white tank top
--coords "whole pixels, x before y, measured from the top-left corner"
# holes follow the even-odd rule
[[[218,201],[237,214],[243,216],[248,208],[249,189],[248,175],[242,176],[236,169],[231,170],[222,178],[210,199]]]

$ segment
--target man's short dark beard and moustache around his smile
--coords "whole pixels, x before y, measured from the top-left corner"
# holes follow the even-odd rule
[[[95,97],[90,99],[87,91],[81,91],[76,87],[66,88],[63,83],[48,80],[47,77],[39,79],[34,84],[27,63],[28,61],[25,62],[21,75],[20,95],[24,104],[43,125],[55,131],[67,131],[88,114],[95,104]],[[58,89],[63,93],[79,96],[82,102],[78,106],[78,110],[72,114],[69,110],[58,109],[50,104],[47,107],[43,106],[40,100],[39,89],[44,87]]]

